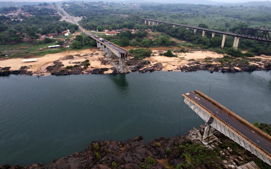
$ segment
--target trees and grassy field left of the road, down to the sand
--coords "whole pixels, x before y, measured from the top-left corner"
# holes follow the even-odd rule
[[[10,10],[18,9],[16,7],[4,7],[0,8],[0,11],[6,14]],[[70,29],[70,32],[75,32],[78,29],[78,26],[75,24],[59,21],[61,17],[55,14],[57,11],[51,8],[37,8],[24,5],[20,10],[25,14],[19,14],[17,17],[0,16],[0,48],[2,49],[0,50],[0,57],[5,55],[9,55],[8,57],[21,57],[24,54],[26,56],[43,56],[45,54],[65,51],[66,49],[43,51],[38,51],[38,49],[44,49],[45,46],[49,45],[57,45],[57,43],[52,43],[57,40],[53,40],[50,34],[57,35],[67,29]],[[41,35],[45,35],[51,39],[44,39]],[[58,40],[58,42],[60,43],[61,41]]]

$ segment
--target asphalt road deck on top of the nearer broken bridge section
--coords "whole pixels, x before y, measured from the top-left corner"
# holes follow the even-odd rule
[[[255,143],[258,147],[260,147],[263,151],[267,152],[268,154],[271,154],[271,140],[258,132],[257,130],[253,129],[252,127],[244,124],[241,122],[238,118],[233,117],[232,115],[229,115],[227,111],[224,109],[216,106],[211,101],[207,100],[206,98],[203,98],[199,94],[195,92],[189,92],[185,94],[201,106],[208,109],[210,112],[214,113],[214,115],[219,118],[220,120],[224,121],[225,123],[235,130],[237,130],[240,134],[242,134],[244,137]],[[227,121],[228,118],[228,121]]]

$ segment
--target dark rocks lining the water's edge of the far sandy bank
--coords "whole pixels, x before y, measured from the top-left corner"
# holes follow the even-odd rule
[[[73,56],[69,56],[72,59]],[[257,62],[257,60],[250,59],[251,64],[248,64],[248,61],[235,61],[234,63],[225,62],[223,64],[219,64],[219,60],[217,58],[209,58],[211,60],[187,60],[187,64],[177,66],[175,69],[167,70],[167,71],[199,71],[205,70],[213,72],[222,72],[222,73],[235,73],[235,72],[243,72],[243,71],[261,71],[261,70],[271,70],[271,62],[270,61],[261,61]],[[61,60],[55,60],[53,65],[46,67],[46,71],[52,75],[69,75],[69,74],[104,74],[107,71],[107,74],[118,74],[118,73],[130,73],[138,71],[138,73],[148,73],[153,71],[162,71],[165,70],[163,63],[161,62],[153,62],[152,60],[136,60],[134,58],[127,59],[126,66],[119,67],[118,59],[114,57],[103,57],[100,59],[101,68],[93,68],[88,60],[83,62],[72,62],[75,65],[71,67],[64,67]],[[102,68],[102,65],[112,65],[111,68]],[[175,65],[173,65],[175,66]],[[10,70],[10,67],[0,68],[0,76],[8,75],[8,74],[24,74],[24,75],[32,75],[32,71],[27,71],[29,66],[22,66],[19,70]],[[39,72],[38,72],[39,73]],[[42,74],[42,72],[41,72]]]

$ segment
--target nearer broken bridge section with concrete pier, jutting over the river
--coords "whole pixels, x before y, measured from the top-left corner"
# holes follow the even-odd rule
[[[206,126],[203,140],[215,130],[223,133],[267,164],[271,165],[271,136],[200,91],[184,93],[184,102],[199,115]]]

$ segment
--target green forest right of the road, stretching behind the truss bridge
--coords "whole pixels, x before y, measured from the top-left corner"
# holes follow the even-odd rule
[[[175,37],[201,48],[211,48],[216,52],[223,53],[223,50],[219,49],[222,41],[221,34],[216,34],[214,38],[211,38],[211,32],[206,32],[205,37],[202,37],[202,31],[197,31],[197,34],[194,35],[193,30],[187,30],[184,27],[172,27],[167,24],[147,25],[141,18],[152,18],[235,33],[243,27],[271,28],[271,7],[267,6],[123,4],[99,1],[80,4],[64,2],[62,7],[74,16],[83,16],[80,24],[85,29],[102,31],[102,29],[127,28],[139,29],[139,32],[151,29],[152,32],[164,33],[162,36],[151,39],[146,38],[147,34],[142,37],[131,35],[130,31],[122,32],[116,36],[117,39],[110,39],[120,46],[130,45],[147,48],[175,46],[177,43],[170,40],[170,37]],[[108,37],[104,36],[104,38]],[[225,50],[233,46],[233,41],[234,37],[226,37]],[[247,49],[254,54],[271,55],[270,44],[255,40],[241,38],[239,49]]]

